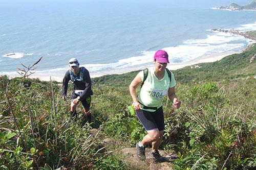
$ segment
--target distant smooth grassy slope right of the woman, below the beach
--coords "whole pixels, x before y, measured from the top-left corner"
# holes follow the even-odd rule
[[[250,58],[256,53],[256,45],[248,51],[224,57],[220,61],[212,63],[198,64],[201,68],[190,66],[175,70],[176,79],[180,82],[190,82],[192,80],[214,80],[234,79],[236,77],[247,77],[256,74],[255,62],[250,64]],[[237,75],[237,76],[236,76]]]

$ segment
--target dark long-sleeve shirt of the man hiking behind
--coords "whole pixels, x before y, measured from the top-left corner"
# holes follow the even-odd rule
[[[80,71],[81,71],[81,68],[80,68]],[[79,77],[79,76],[80,76],[80,72],[77,77]],[[71,80],[71,77],[70,77],[70,73],[68,70],[65,74],[65,77],[63,78],[62,96],[67,95],[68,84],[69,84],[70,80]],[[92,81],[90,78],[89,71],[86,68],[84,68],[83,81],[74,81],[74,89],[73,90],[83,90],[82,94],[80,94],[80,101],[89,97],[90,95],[93,95]]]

